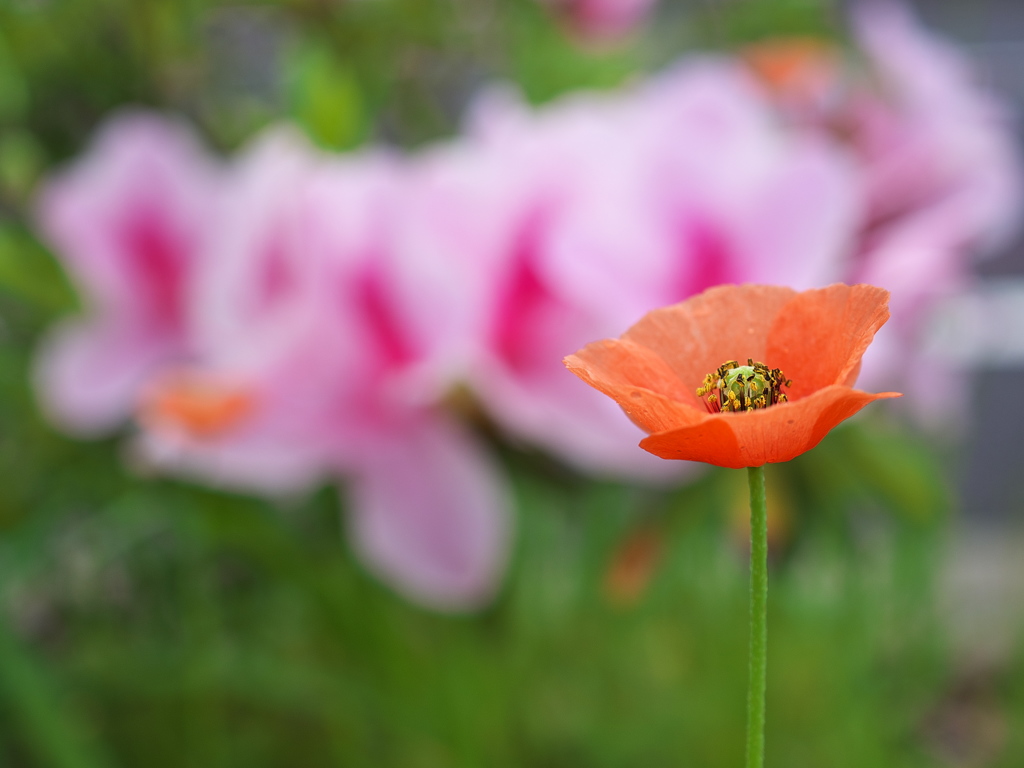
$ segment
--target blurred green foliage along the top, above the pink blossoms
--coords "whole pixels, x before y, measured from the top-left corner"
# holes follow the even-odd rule
[[[125,105],[182,113],[225,147],[283,116],[328,146],[409,145],[452,133],[484,83],[544,100],[685,46],[839,29],[828,0],[665,6],[632,45],[581,46],[537,0],[5,0],[0,130],[32,137],[37,168]]]

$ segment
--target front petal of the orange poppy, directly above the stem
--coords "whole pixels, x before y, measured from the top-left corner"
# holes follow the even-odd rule
[[[640,447],[663,459],[720,467],[760,467],[786,462],[817,445],[829,430],[872,400],[899,397],[830,386],[809,397],[742,414],[716,414],[694,425],[658,432]]]

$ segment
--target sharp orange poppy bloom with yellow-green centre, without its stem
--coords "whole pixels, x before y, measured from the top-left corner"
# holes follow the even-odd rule
[[[888,291],[863,285],[721,286],[647,313],[565,365],[648,433],[645,451],[760,467],[810,451],[871,400],[900,396],[852,388],[888,303]]]

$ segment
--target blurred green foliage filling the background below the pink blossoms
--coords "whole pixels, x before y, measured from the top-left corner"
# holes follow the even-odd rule
[[[114,445],[86,459],[38,437],[17,471],[60,483],[26,478],[29,509],[7,517],[0,543],[0,742],[17,765],[741,758],[736,473],[666,497],[508,457],[521,513],[512,574],[493,607],[451,617],[361,571],[330,489],[274,509],[131,477]],[[772,485],[808,470],[775,469]],[[941,526],[865,514],[888,546],[819,521],[776,550],[769,765],[931,765],[922,732],[946,669],[931,592]],[[664,558],[642,594],[615,598],[608,569],[638,529],[656,532]]]

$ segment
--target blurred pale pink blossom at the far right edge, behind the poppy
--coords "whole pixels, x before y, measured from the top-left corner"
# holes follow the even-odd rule
[[[855,279],[889,288],[893,312],[893,338],[865,355],[864,376],[902,386],[905,370],[938,371],[922,357],[933,312],[971,284],[972,257],[1018,226],[1021,166],[1007,109],[959,51],[902,6],[867,4],[855,20],[881,89],[852,106],[871,203]],[[920,414],[956,411],[952,373],[937,374],[949,383],[941,392],[909,377]]]

